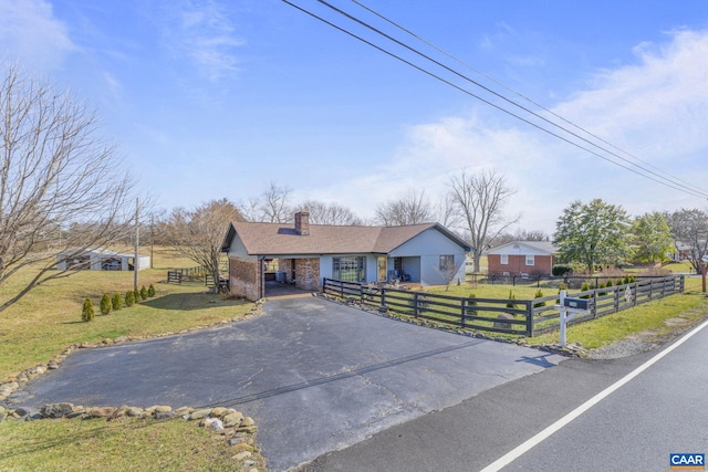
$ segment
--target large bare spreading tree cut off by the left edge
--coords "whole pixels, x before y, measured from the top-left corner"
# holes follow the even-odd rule
[[[0,77],[0,312],[40,283],[83,269],[56,263],[108,245],[132,224],[134,180],[97,136],[95,113],[52,84],[2,66]],[[58,261],[59,259],[59,261]]]

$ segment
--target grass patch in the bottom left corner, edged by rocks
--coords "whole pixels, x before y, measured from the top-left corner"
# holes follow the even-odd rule
[[[226,444],[183,419],[3,421],[0,470],[240,471]]]

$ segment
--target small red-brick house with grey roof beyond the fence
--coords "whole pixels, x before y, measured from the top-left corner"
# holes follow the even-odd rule
[[[558,250],[550,241],[512,241],[487,251],[489,275],[552,275]]]

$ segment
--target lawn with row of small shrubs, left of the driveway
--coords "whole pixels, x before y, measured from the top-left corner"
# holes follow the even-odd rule
[[[132,307],[123,307],[107,316],[102,316],[98,311],[104,293],[125,295],[133,287],[133,272],[82,271],[40,285],[0,313],[0,340],[8,347],[0,350],[0,380],[49,361],[71,344],[212,325],[242,315],[252,306],[206,294],[206,286],[199,282],[183,285],[164,283],[167,268],[174,268],[175,262],[185,266],[195,264],[173,258],[167,250],[157,251],[155,256],[155,269],[138,273],[138,286],[154,284],[156,296]],[[29,273],[24,275],[29,276]],[[10,280],[0,289],[0,294],[17,286],[18,281]],[[87,297],[94,304],[96,317],[91,323],[83,323],[81,311]]]

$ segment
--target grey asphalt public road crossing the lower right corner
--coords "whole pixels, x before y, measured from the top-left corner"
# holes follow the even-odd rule
[[[301,470],[481,471],[660,352],[569,359],[325,454]],[[708,328],[702,328],[501,470],[668,471],[671,452],[708,453],[707,358]]]

